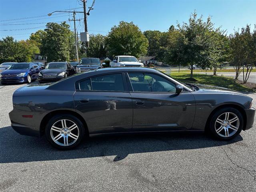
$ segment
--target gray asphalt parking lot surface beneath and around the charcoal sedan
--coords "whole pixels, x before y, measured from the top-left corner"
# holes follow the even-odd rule
[[[59,151],[10,127],[20,86],[0,85],[0,191],[256,191],[255,122],[229,142],[201,132],[144,134],[90,138]]]

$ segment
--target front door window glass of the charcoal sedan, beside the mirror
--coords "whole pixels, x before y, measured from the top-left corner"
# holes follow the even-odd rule
[[[134,92],[176,92],[176,84],[155,74],[128,73]]]

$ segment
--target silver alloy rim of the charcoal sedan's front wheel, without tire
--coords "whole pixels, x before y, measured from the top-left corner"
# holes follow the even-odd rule
[[[215,131],[221,137],[230,137],[238,131],[239,125],[240,121],[236,114],[225,112],[216,119]]]

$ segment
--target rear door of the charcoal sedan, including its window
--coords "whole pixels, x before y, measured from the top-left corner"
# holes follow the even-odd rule
[[[102,74],[76,82],[74,104],[90,134],[132,130],[132,98],[124,73]]]

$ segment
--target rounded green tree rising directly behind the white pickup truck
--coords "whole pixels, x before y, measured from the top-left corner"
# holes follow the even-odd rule
[[[113,26],[107,37],[110,55],[132,55],[139,57],[146,55],[148,40],[133,22],[121,21]]]

